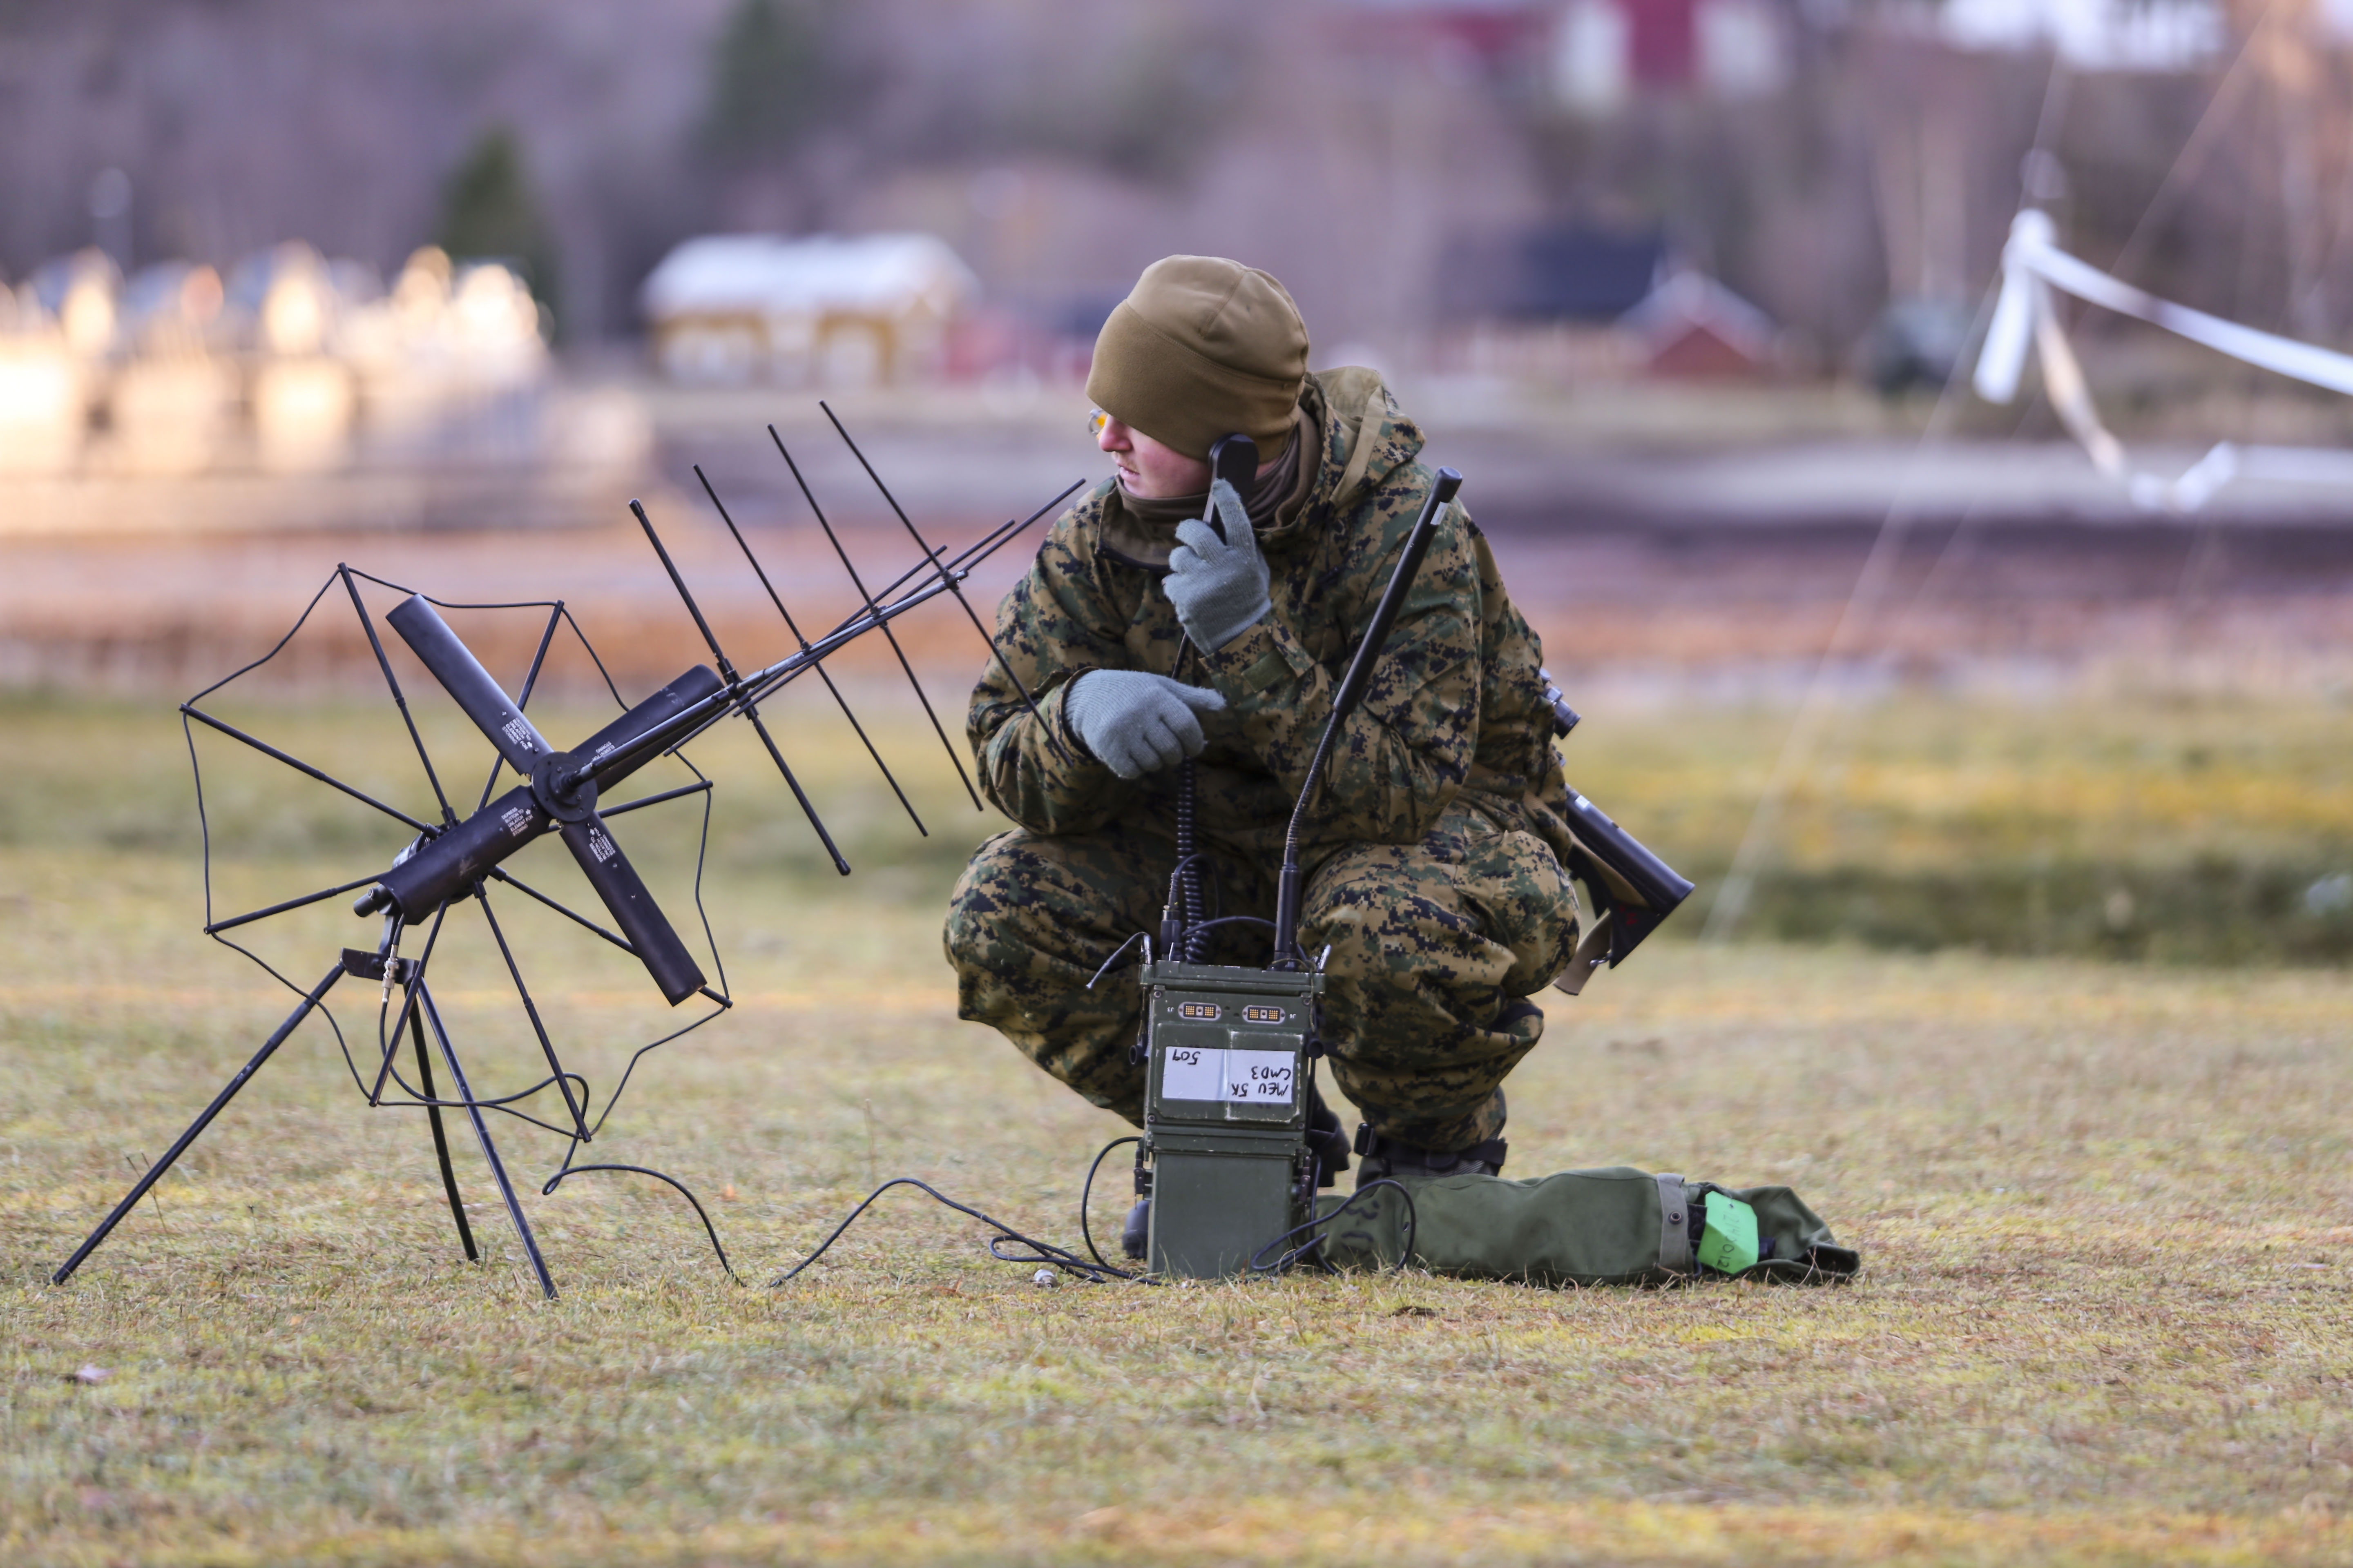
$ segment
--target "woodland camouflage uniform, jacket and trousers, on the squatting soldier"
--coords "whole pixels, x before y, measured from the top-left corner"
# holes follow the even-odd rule
[[[1019,827],[984,844],[955,884],[958,1011],[1129,1121],[1144,1114],[1144,1070],[1127,1060],[1136,985],[1113,973],[1089,992],[1087,980],[1160,924],[1179,771],[1122,780],[1078,743],[1064,696],[1087,670],[1153,670],[1224,693],[1226,710],[1202,715],[1195,764],[1212,912],[1273,914],[1292,799],[1433,482],[1417,463],[1421,430],[1372,371],[1315,374],[1301,404],[1304,428],[1322,430],[1320,454],[1301,458],[1320,468],[1304,501],[1259,529],[1273,614],[1214,654],[1191,649],[1146,564],[1146,524],[1106,482],[1054,522],[998,607],[998,646],[1038,717],[995,665],[972,696],[981,788]],[[1487,541],[1452,508],[1301,835],[1301,945],[1332,945],[1325,1034],[1339,1088],[1379,1133],[1431,1150],[1501,1131],[1504,1074],[1544,1032],[1527,997],[1577,945],[1539,658]],[[1212,961],[1266,961],[1264,926],[1212,936]]]

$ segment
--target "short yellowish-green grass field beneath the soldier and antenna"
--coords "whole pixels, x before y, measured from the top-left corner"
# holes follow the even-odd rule
[[[906,1192],[767,1288],[894,1173],[1075,1241],[1085,1159],[1122,1128],[955,1023],[936,914],[979,820],[913,733],[885,745],[918,776],[920,851],[849,757],[812,752],[852,882],[812,872],[727,736],[704,757],[727,780],[708,893],[739,1009],[647,1058],[588,1157],[689,1182],[741,1281],[668,1187],[539,1197],[562,1143],[520,1126],[501,1147],[565,1293],[539,1300],[459,1138],[487,1255],[466,1265],[421,1117],[365,1110],[306,1027],[54,1288],[289,999],[193,931],[165,705],[0,717],[9,1563],[2353,1556],[2341,969],[1661,938],[1551,997],[1513,1079],[1515,1173],[1788,1182],[1864,1251],[1849,1288],[1047,1291]],[[275,722],[400,788],[381,715]],[[1779,722],[1591,724],[1579,785],[1671,858],[1722,863]],[[1784,863],[1953,886],[2038,853],[2318,877],[2353,842],[2339,736],[2327,708],[1889,708],[1798,804]],[[221,912],[388,853],[268,766],[207,778]],[[673,905],[685,811],[624,818]],[[607,1093],[659,1009],[593,938],[508,907],[551,1030]],[[304,983],[367,938],[339,900],[285,926],[266,952]],[[452,933],[438,990],[478,1088],[520,1086],[536,1051],[478,936]],[[372,1053],[374,994],[339,1001]]]

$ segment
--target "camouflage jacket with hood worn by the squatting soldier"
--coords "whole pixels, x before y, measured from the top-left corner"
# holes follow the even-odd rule
[[[1061,708],[1087,670],[1153,670],[1226,698],[1224,712],[1202,715],[1202,835],[1266,865],[1280,856],[1348,656],[1435,482],[1417,461],[1421,428],[1398,411],[1379,374],[1313,374],[1301,407],[1308,428],[1322,430],[1322,454],[1304,501],[1259,529],[1273,614],[1214,654],[1184,642],[1160,592],[1162,571],[1118,548],[1144,527],[1120,510],[1118,480],[1054,522],[1028,576],[998,607],[998,649],[1035,696],[1038,717],[995,663],[972,693],[967,733],[981,790],[1005,816],[1047,835],[1115,818],[1174,820],[1176,769],[1120,778],[1087,755]],[[1440,517],[1362,705],[1332,748],[1301,835],[1311,863],[1315,846],[1417,844],[1459,795],[1497,827],[1534,832],[1567,856],[1539,663],[1537,632],[1457,501]]]

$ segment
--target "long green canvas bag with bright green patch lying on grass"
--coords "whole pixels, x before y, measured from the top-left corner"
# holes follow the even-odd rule
[[[1315,1213],[1327,1222],[1320,1258],[1344,1269],[1395,1267],[1407,1232],[1414,1267],[1532,1286],[1642,1286],[1701,1274],[1835,1284],[1861,1267],[1788,1187],[1718,1187],[1631,1166],[1527,1180],[1438,1175],[1409,1180],[1407,1192],[1325,1197]],[[1694,1213],[1704,1225],[1694,1227]]]

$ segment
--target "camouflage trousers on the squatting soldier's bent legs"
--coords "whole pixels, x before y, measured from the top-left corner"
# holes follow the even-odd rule
[[[1212,912],[1271,917],[1275,867],[1214,835],[1202,846]],[[1134,973],[1087,980],[1129,936],[1160,929],[1174,865],[1158,823],[984,844],[948,903],[958,1016],[1141,1124]],[[1527,997],[1577,945],[1577,896],[1553,851],[1457,802],[1421,844],[1353,844],[1308,870],[1299,938],[1306,952],[1332,945],[1325,1046],[1341,1093],[1374,1131],[1426,1150],[1497,1135],[1504,1074],[1544,1034]],[[1212,938],[1214,964],[1266,964],[1264,926]]]

